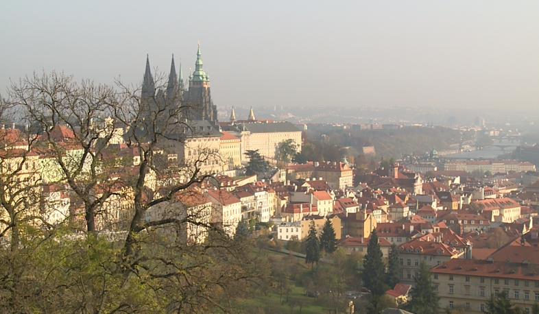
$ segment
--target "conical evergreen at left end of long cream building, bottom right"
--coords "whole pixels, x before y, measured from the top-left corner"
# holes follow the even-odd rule
[[[411,301],[407,309],[416,314],[431,314],[438,312],[440,298],[435,293],[429,267],[424,261],[419,265],[419,274],[414,278],[414,288],[410,291]]]

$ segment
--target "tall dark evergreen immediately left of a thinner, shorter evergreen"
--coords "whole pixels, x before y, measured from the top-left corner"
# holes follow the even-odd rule
[[[363,259],[363,286],[370,289],[373,295],[383,295],[387,290],[387,286],[383,283],[383,277],[383,254],[376,230],[372,230],[369,245],[367,246],[367,254]]]

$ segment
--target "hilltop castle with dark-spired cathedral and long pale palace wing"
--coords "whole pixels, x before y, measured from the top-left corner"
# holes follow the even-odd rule
[[[166,90],[156,90],[154,78],[149,67],[149,58],[146,59],[146,70],[143,79],[141,98],[143,106],[149,106],[149,112],[157,112],[152,106],[158,106],[160,101],[176,101],[176,108],[187,108],[187,110],[177,110],[178,119],[187,119],[190,121],[194,129],[187,132],[187,136],[197,137],[196,140],[188,140],[186,143],[191,143],[191,147],[175,147],[173,150],[178,158],[183,158],[184,161],[190,159],[195,160],[201,149],[209,149],[208,145],[204,147],[194,147],[195,143],[215,143],[216,138],[219,142],[215,143],[215,147],[211,147],[214,151],[219,147],[219,153],[224,158],[221,162],[209,160],[208,165],[205,165],[208,172],[219,172],[219,170],[235,169],[239,163],[248,162],[245,159],[245,152],[248,150],[258,149],[262,156],[270,159],[276,158],[277,148],[279,143],[287,139],[294,140],[296,149],[301,151],[301,131],[296,126],[289,122],[276,122],[268,119],[256,119],[254,111],[251,108],[247,120],[239,121],[236,119],[234,108],[230,112],[230,122],[217,121],[217,106],[213,104],[210,91],[210,77],[202,68],[202,58],[200,46],[197,51],[197,60],[195,62],[195,71],[189,75],[189,88],[184,88],[182,67],[180,64],[179,75],[176,73],[174,64],[174,56],[172,56],[169,80]],[[180,99],[179,101],[176,99]],[[181,106],[181,107],[180,107]],[[158,126],[158,125],[157,125]],[[149,126],[150,127],[150,126]],[[203,130],[201,132],[200,130]],[[172,130],[172,132],[175,130]],[[223,131],[227,131],[221,133]],[[221,136],[221,138],[218,138]],[[178,146],[178,145],[176,145]],[[196,146],[196,145],[195,145]],[[199,145],[200,146],[200,145]],[[224,161],[224,162],[223,162]]]

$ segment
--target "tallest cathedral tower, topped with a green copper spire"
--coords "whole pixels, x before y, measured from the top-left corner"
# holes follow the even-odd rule
[[[217,106],[213,105],[210,92],[210,77],[202,69],[200,45],[197,51],[195,71],[189,75],[189,90],[184,95],[187,106],[193,106],[193,120],[208,120],[217,123]]]

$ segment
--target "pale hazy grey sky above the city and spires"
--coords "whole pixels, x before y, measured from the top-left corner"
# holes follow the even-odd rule
[[[539,111],[539,1],[1,1],[0,90],[34,71],[184,78],[217,106]]]

